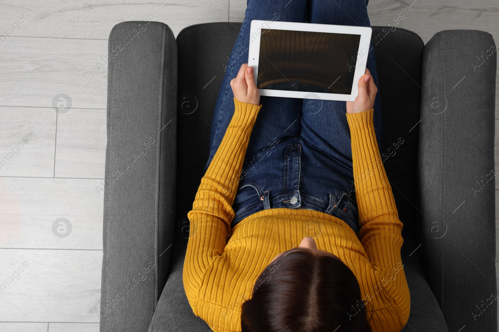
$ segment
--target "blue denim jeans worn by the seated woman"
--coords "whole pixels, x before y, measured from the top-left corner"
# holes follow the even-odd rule
[[[234,114],[230,81],[248,62],[253,19],[370,26],[368,0],[248,0],[212,119],[210,157],[222,142]],[[371,46],[367,68],[378,87],[374,129],[382,145],[382,114],[376,61]],[[346,64],[345,64],[346,65]],[[355,82],[356,84],[357,82]],[[233,204],[234,227],[264,209],[309,209],[335,216],[358,233],[350,128],[346,102],[261,96],[262,108],[250,136]],[[244,173],[243,173],[244,174]]]

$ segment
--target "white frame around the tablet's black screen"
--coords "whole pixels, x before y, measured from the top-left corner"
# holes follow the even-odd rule
[[[371,27],[353,26],[353,25],[318,24],[318,23],[265,21],[265,20],[253,19],[251,21],[251,28],[250,28],[248,66],[253,67],[255,83],[257,82],[257,77],[258,77],[258,59],[260,55],[260,31],[262,28],[357,34],[360,35],[360,42],[357,53],[357,61],[355,63],[355,73],[353,77],[352,91],[350,95],[307,92],[307,91],[258,89],[258,91],[260,92],[260,96],[312,98],[312,99],[350,101],[350,102],[353,102],[355,100],[355,97],[357,97],[358,94],[357,83],[359,82],[360,77],[364,75],[366,69],[367,55],[369,53],[371,34],[372,34]],[[313,98],[313,95],[316,95],[318,98]]]

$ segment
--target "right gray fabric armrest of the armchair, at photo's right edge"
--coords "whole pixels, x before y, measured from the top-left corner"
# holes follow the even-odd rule
[[[427,281],[450,331],[497,331],[497,301],[488,300],[497,295],[491,46],[488,32],[444,30],[423,54],[417,224]]]

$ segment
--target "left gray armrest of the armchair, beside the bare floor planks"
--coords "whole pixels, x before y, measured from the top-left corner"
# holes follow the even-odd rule
[[[177,43],[161,22],[115,25],[108,44],[100,331],[147,331],[175,231]]]

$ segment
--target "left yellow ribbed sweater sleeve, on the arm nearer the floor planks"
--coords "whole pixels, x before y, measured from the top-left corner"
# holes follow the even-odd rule
[[[232,208],[239,187],[243,162],[261,104],[242,103],[234,98],[235,111],[205,175],[201,179],[190,221],[184,260],[183,282],[194,314],[198,313],[202,278],[212,262],[222,255],[235,214]],[[202,310],[202,309],[201,309]]]

